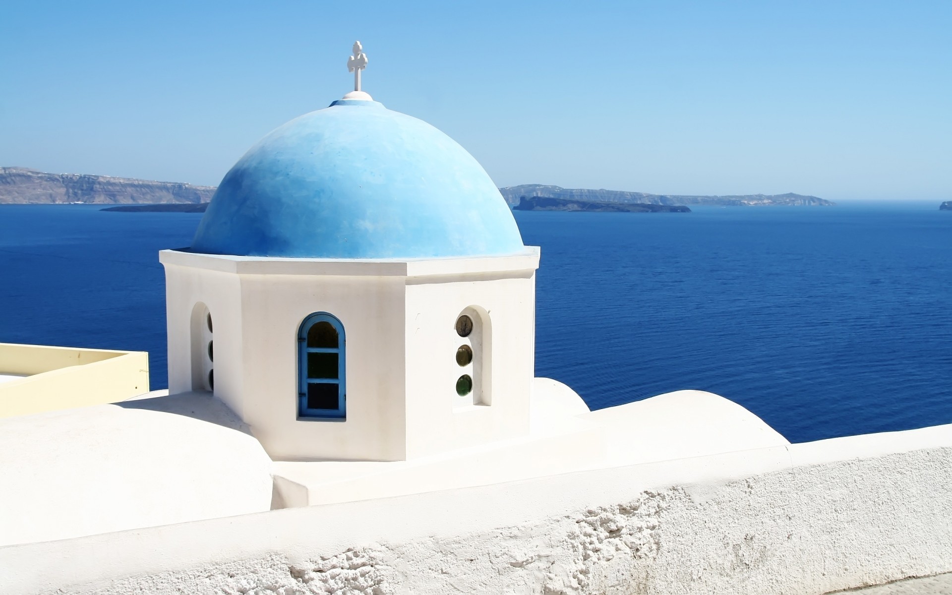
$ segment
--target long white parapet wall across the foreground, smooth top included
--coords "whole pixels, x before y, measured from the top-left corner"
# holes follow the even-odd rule
[[[952,426],[0,548],[10,593],[819,594],[950,570]]]

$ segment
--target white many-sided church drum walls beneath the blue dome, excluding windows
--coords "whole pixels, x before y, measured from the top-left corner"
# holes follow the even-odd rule
[[[163,250],[160,260],[169,392],[194,386],[193,336],[205,332],[194,312],[204,305],[214,321],[213,392],[277,460],[394,461],[528,433],[538,248],[403,262]],[[453,399],[453,326],[465,310],[481,316],[476,385],[489,406]],[[297,332],[314,312],[335,316],[347,336],[344,420],[297,415]]]

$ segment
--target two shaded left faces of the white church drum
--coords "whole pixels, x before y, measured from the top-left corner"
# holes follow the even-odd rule
[[[272,458],[405,458],[406,263],[174,250],[160,252],[160,260],[167,268],[171,393],[189,389],[184,329],[192,305],[204,302],[214,320],[215,396]],[[298,418],[298,329],[320,311],[338,318],[347,337],[344,420]]]

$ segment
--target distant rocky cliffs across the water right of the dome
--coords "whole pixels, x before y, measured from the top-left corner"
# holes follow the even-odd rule
[[[645,194],[645,192],[625,192],[623,190],[592,190],[588,188],[559,188],[541,184],[524,184],[499,188],[506,203],[518,205],[522,196],[545,196],[564,200],[577,200],[593,203],[643,203],[648,205],[725,205],[759,207],[783,205],[790,207],[835,205],[816,196],[803,196],[788,192],[786,194],[744,194],[737,196],[695,196],[677,194]]]

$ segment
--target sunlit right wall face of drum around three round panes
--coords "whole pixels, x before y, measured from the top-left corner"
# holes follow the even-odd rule
[[[407,279],[408,457],[528,434],[534,304],[534,268]],[[468,337],[455,328],[463,314]],[[461,345],[473,348],[472,365],[457,364]],[[463,374],[476,377],[461,398]]]

